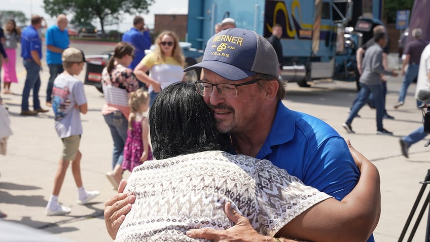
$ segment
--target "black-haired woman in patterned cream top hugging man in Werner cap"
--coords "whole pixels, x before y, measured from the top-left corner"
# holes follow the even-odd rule
[[[354,190],[338,201],[268,160],[219,151],[228,149],[222,145],[228,142],[212,131],[214,120],[193,84],[174,83],[163,89],[150,110],[149,124],[154,157],[164,159],[134,168],[125,191],[132,192],[135,201],[119,219],[118,234],[111,233],[116,241],[202,241],[187,235],[196,237],[192,229],[197,228],[231,228],[229,218],[248,226],[254,241],[293,241],[273,236],[364,241],[370,236],[350,239],[360,219],[357,211],[379,196],[379,176],[353,148],[362,175]],[[105,209],[105,218],[124,213],[110,212]],[[376,224],[368,226],[374,229]]]

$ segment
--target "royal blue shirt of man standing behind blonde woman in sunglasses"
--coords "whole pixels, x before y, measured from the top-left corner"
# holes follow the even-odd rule
[[[134,59],[128,66],[131,70],[145,57],[145,50],[151,47],[151,36],[149,31],[140,32],[137,28],[132,27],[122,36],[122,41],[128,42],[134,47]]]

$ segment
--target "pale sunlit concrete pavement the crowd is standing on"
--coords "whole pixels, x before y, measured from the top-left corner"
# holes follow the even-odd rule
[[[112,45],[97,43],[72,43],[71,46],[83,49],[86,54],[100,54],[113,49]],[[392,68],[398,66],[395,56],[396,54],[390,54]],[[49,71],[46,63],[43,67],[40,98],[42,107],[47,108],[45,90]],[[62,144],[54,129],[52,110],[35,117],[19,115],[25,81],[25,69],[20,57],[17,60],[17,73],[19,83],[12,84],[11,88],[14,94],[1,94],[9,108],[14,132],[8,142],[7,155],[0,156],[0,211],[7,214],[3,220],[53,233],[60,239],[110,241],[104,228],[103,203],[116,192],[105,177],[105,172],[111,168],[113,144],[108,126],[100,113],[104,102],[102,94],[93,86],[85,86],[88,113],[81,115],[84,134],[80,145],[84,187],[87,190],[100,190],[101,194],[87,205],[78,205],[75,182],[68,171],[59,201],[70,206],[72,211],[67,216],[48,217],[45,215],[45,206],[53,187]],[[79,78],[83,80],[83,74]],[[310,88],[300,88],[297,84],[290,83],[283,100],[290,109],[312,114],[332,125],[378,167],[382,211],[374,232],[376,241],[398,241],[422,187],[419,182],[424,180],[427,169],[430,169],[430,148],[424,147],[425,140],[410,148],[409,159],[401,154],[399,138],[421,125],[421,111],[416,109],[413,98],[415,84],[408,90],[405,105],[397,110],[392,108],[397,102],[401,82],[402,77],[388,80],[386,108],[395,119],[384,120],[384,127],[394,132],[393,136],[376,135],[375,110],[367,106],[360,111],[361,118],[354,119],[352,123],[355,134],[348,134],[342,128],[348,115],[347,110],[356,95],[355,83],[322,80],[315,82]],[[125,172],[124,177],[128,176],[129,172]],[[429,188],[425,190],[424,196],[429,193],[428,190]],[[423,200],[422,198],[415,215],[421,209]],[[412,241],[423,240],[427,215],[426,210]],[[1,226],[0,224],[0,230]],[[410,229],[407,236],[409,231]],[[6,240],[0,236],[0,241]]]

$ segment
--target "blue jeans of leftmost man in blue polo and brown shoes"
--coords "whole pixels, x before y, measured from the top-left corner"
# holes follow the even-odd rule
[[[25,78],[24,90],[22,91],[21,111],[28,111],[28,97],[33,89],[33,109],[40,109],[39,89],[40,89],[40,65],[33,60],[24,60],[24,67],[27,71]]]

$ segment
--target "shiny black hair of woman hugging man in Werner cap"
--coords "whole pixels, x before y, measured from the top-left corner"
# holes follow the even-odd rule
[[[164,88],[149,111],[153,155],[178,155],[230,147],[227,134],[219,134],[215,121],[196,85],[176,82]]]

